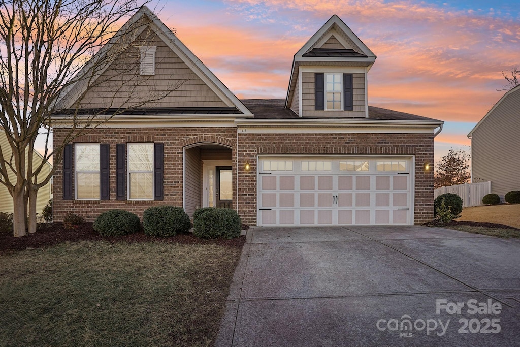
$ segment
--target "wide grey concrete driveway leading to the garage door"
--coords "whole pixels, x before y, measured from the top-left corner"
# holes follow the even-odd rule
[[[443,228],[255,227],[216,346],[520,345],[520,241]]]

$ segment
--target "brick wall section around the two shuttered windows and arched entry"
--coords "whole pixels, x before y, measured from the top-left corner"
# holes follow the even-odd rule
[[[54,143],[62,141],[65,132],[54,130]],[[63,165],[57,164],[53,178],[54,220],[61,221],[67,212],[94,221],[102,212],[110,209],[131,211],[142,217],[142,213],[152,205],[167,204],[183,206],[183,147],[196,143],[218,143],[232,147],[233,162],[236,162],[235,142],[237,130],[233,127],[201,128],[99,128],[88,135],[78,137],[74,143],[110,144],[110,200],[63,200]],[[123,201],[115,200],[115,145],[127,142],[154,142],[164,144],[164,200],[163,201]],[[233,176],[236,168],[233,165]],[[236,176],[235,176],[236,177]],[[74,178],[73,178],[74,182]],[[74,183],[73,183],[74,184]],[[74,191],[74,187],[73,190]],[[233,191],[237,191],[233,183]]]

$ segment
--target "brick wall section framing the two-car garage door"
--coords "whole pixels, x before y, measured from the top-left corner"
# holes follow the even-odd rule
[[[257,134],[239,133],[238,167],[246,162],[251,171],[240,170],[238,204],[243,222],[256,225],[257,155],[414,155],[415,224],[433,220],[433,171],[424,172],[425,161],[433,163],[432,134]]]

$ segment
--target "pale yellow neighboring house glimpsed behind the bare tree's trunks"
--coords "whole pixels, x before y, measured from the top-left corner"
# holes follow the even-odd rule
[[[9,143],[7,142],[7,137],[6,137],[5,132],[2,127],[0,127],[0,146],[2,147],[2,152],[3,152],[4,158],[9,158],[12,154],[11,146],[9,146]],[[25,158],[27,158],[27,156],[28,156],[27,153],[25,153]],[[36,150],[34,151],[33,158],[34,158],[33,166],[40,165],[43,161],[42,155],[40,153],[38,153]],[[42,182],[43,179],[47,177],[50,170],[52,170],[52,169],[53,169],[53,165],[51,165],[49,162],[46,162],[42,169],[41,174],[38,175],[38,182]],[[8,172],[9,172],[9,179],[10,179],[11,183],[15,183],[16,174],[10,170]],[[0,177],[0,179],[2,179],[2,178]],[[42,213],[44,206],[47,204],[47,202],[49,201],[49,199],[51,197],[52,197],[51,183],[49,182],[38,190],[38,196],[36,198],[36,211],[38,214]],[[4,186],[3,184],[0,183],[0,212],[12,213],[13,210],[14,209],[12,207],[12,197],[9,194],[9,190],[7,189],[6,186]]]

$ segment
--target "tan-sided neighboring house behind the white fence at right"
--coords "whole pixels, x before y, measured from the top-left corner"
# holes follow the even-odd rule
[[[520,190],[520,86],[505,93],[467,134],[471,138],[471,182],[491,181],[502,200]]]

